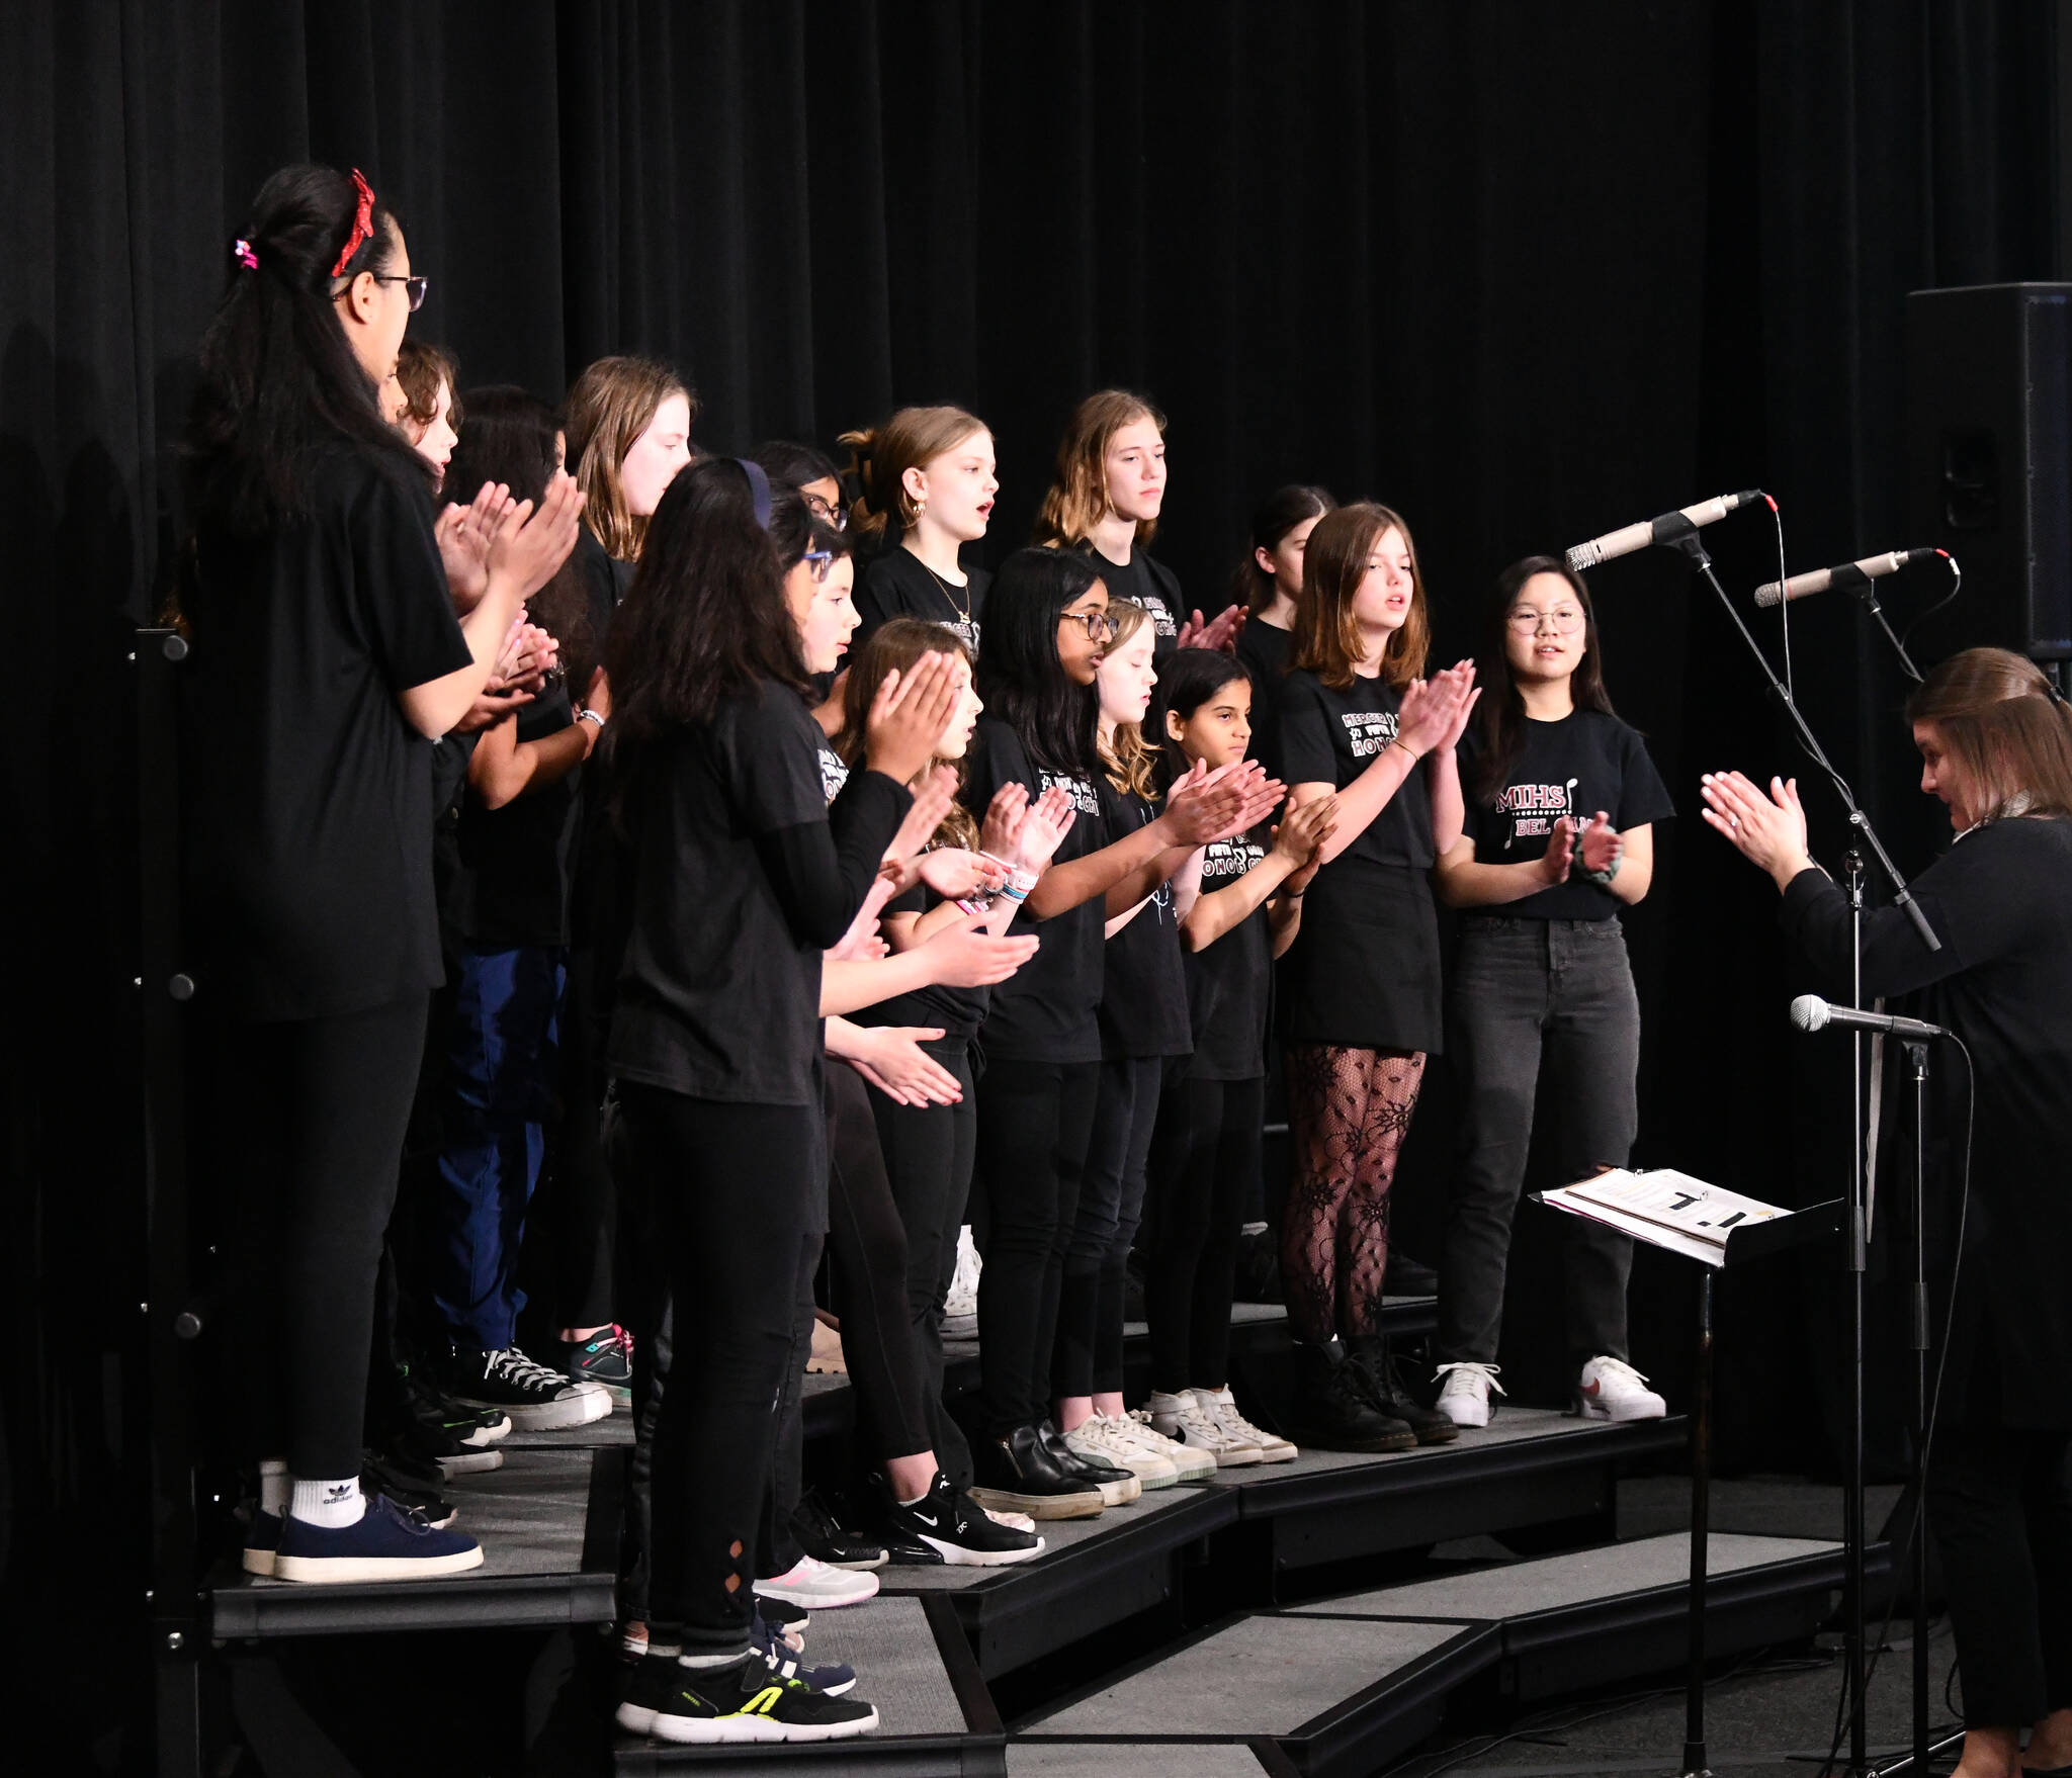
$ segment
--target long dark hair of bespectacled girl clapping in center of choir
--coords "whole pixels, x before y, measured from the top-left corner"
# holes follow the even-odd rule
[[[978,696],[1015,732],[1030,765],[1077,777],[1100,771],[1100,692],[1067,676],[1057,620],[1098,580],[1084,555],[1017,549],[986,593],[978,655]]]

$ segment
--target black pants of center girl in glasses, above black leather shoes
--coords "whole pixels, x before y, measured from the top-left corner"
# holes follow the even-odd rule
[[[988,1061],[978,1094],[980,1415],[1005,1434],[1051,1415],[1065,1243],[1094,1131],[1098,1061]]]

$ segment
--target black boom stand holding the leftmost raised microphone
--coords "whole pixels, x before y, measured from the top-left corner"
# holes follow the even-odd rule
[[[1915,901],[1912,891],[1906,887],[1906,879],[1900,877],[1900,868],[1892,862],[1892,854],[1886,852],[1877,833],[1871,829],[1869,816],[1857,804],[1848,781],[1834,769],[1828,752],[1821,748],[1819,738],[1807,725],[1805,715],[1801,715],[1796,700],[1784,680],[1778,678],[1776,667],[1769,665],[1769,657],[1763,653],[1755,634],[1749,630],[1734,601],[1726,595],[1720,584],[1720,576],[1711,572],[1711,555],[1705,543],[1697,535],[1697,526],[1670,537],[1658,537],[1658,543],[1670,549],[1680,549],[1691,568],[1705,576],[1705,584],[1711,586],[1720,601],[1720,609],[1726,611],[1728,622],[1740,634],[1740,640],[1749,649],[1749,657],[1755,661],[1763,680],[1769,684],[1769,694],[1782,705],[1784,715],[1790,719],[1792,732],[1798,738],[1798,746],[1805,750],[1834,785],[1836,796],[1842,798],[1842,806],[1848,810],[1848,825],[1857,829],[1859,841],[1877,860],[1877,868],[1883,872],[1886,881],[1892,885],[1892,901],[1906,910],[1906,918],[1912,922],[1915,930],[1921,935],[1921,943],[1929,951],[1941,949],[1941,939],[1935,937],[1933,926],[1929,926],[1927,914]],[[1890,634],[1890,630],[1888,630]],[[1894,644],[1898,638],[1894,636]],[[1904,655],[1904,651],[1902,651]],[[1863,860],[1854,852],[1844,860],[1846,893],[1850,897],[1850,993],[1859,1011],[1863,1009]],[[1846,1637],[1846,1664],[1848,1664],[1848,1693],[1850,1693],[1850,1716],[1848,1716],[1848,1770],[1852,1774],[1869,1772],[1869,1747],[1865,1739],[1865,1699],[1863,1699],[1863,1556],[1865,1556],[1865,1523],[1863,1523],[1863,1330],[1865,1330],[1865,1260],[1867,1260],[1867,1202],[1865,1202],[1865,1152],[1869,1142],[1869,1131],[1865,1127],[1865,1096],[1863,1096],[1863,1032],[1850,1034],[1850,1109],[1848,1109],[1848,1214],[1842,1218],[1844,1225],[1844,1264],[1848,1268],[1848,1301],[1850,1301],[1850,1378],[1848,1378],[1848,1494],[1844,1498],[1844,1544],[1846,1544],[1846,1594],[1844,1594],[1844,1637]]]

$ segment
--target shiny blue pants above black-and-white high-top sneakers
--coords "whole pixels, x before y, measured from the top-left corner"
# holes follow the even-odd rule
[[[518,1243],[547,1152],[566,959],[557,945],[460,953],[427,1260],[462,1347],[508,1347],[524,1308]]]

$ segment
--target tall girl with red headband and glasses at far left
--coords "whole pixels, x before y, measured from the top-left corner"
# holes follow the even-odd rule
[[[244,1565],[288,1581],[474,1567],[361,1496],[381,1235],[439,982],[429,738],[474,702],[580,495],[472,508],[456,622],[429,477],[387,425],[423,284],[367,182],[286,168],[234,242],[186,435],[186,920],[222,1206],[224,1397],[263,1459]],[[284,1463],[280,1459],[286,1459]]]

